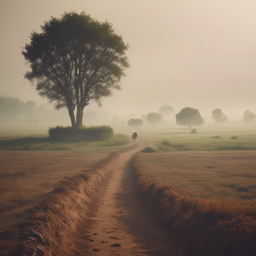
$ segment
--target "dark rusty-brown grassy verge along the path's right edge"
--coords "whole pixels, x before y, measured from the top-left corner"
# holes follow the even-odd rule
[[[256,255],[255,206],[189,196],[149,178],[139,155],[132,163],[141,199],[188,255]]]

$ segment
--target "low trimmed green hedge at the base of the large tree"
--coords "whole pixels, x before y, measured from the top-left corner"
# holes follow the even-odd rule
[[[113,128],[110,126],[91,126],[91,127],[62,127],[57,126],[49,129],[51,141],[80,142],[107,140],[114,135]]]

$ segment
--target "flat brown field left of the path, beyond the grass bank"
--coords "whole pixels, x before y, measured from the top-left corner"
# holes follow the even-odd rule
[[[0,230],[21,220],[27,209],[58,184],[107,157],[106,153],[1,152]]]

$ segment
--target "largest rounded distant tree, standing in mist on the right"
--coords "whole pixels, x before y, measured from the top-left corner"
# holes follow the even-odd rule
[[[194,108],[183,108],[178,114],[176,114],[176,123],[178,125],[188,126],[189,129],[193,125],[201,125],[204,123],[199,110]]]

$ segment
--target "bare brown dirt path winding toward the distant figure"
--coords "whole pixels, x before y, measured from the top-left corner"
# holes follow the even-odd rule
[[[181,255],[168,235],[136,199],[131,180],[131,157],[144,148],[124,153],[100,200],[89,232],[87,255]]]

